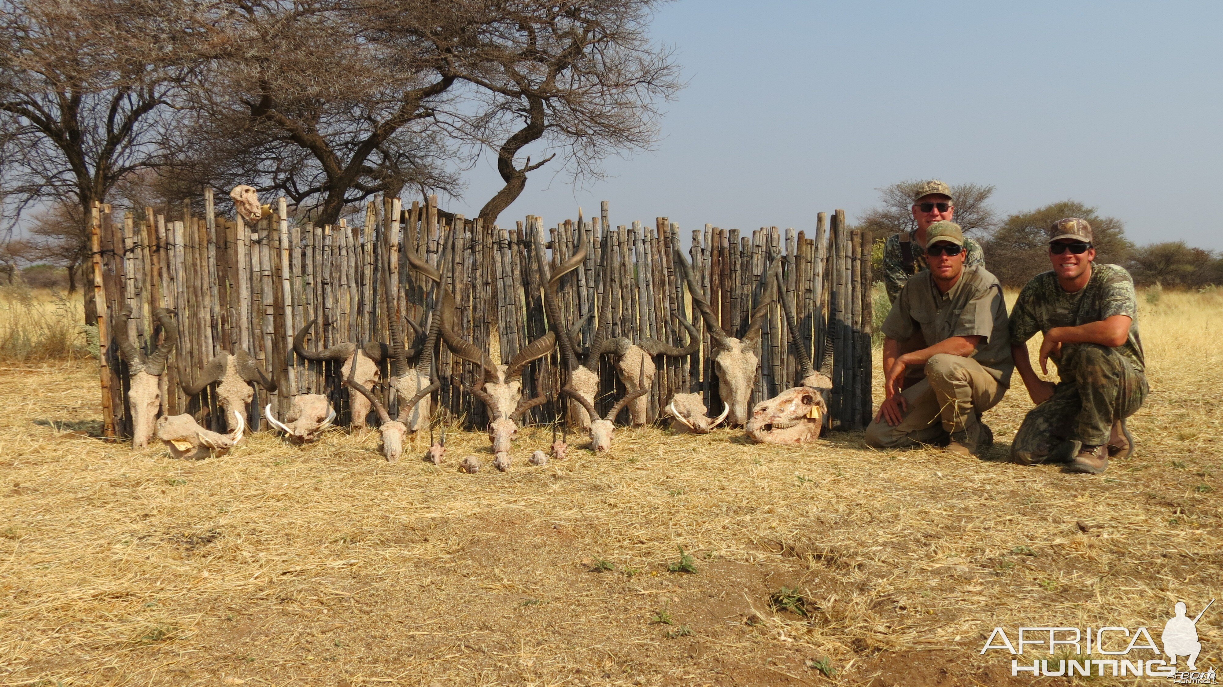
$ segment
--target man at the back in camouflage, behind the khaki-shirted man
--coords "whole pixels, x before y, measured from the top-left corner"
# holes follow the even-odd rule
[[[883,284],[888,288],[888,301],[895,302],[900,287],[910,276],[928,269],[926,264],[926,231],[937,221],[955,218],[955,200],[951,188],[942,181],[922,182],[914,192],[914,221],[917,229],[889,236],[883,243]],[[985,266],[985,252],[971,238],[964,240],[965,266]]]

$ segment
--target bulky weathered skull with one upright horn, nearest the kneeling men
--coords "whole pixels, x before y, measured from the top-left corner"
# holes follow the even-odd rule
[[[811,364],[811,356],[807,355],[807,347],[799,334],[794,303],[780,284],[780,275],[778,275],[778,292],[790,330],[790,345],[799,358],[799,386],[756,403],[746,430],[747,436],[755,441],[797,445],[819,438],[823,418],[828,413],[828,403],[823,395],[833,388],[833,383],[827,374],[816,370]]]

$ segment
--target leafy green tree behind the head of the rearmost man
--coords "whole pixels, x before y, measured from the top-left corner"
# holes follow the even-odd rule
[[[898,181],[892,186],[877,188],[879,204],[867,210],[859,220],[859,229],[870,230],[876,241],[885,240],[893,233],[917,229],[914,221],[914,193],[926,180]],[[980,183],[956,183],[951,186],[951,198],[955,203],[955,224],[965,233],[981,240],[998,225],[998,215],[989,204],[993,186]],[[987,257],[988,258],[988,257]]]

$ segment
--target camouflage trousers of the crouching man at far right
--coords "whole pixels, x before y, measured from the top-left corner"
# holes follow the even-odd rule
[[[1062,381],[1053,397],[1029,411],[1015,434],[1010,455],[1016,462],[1038,463],[1066,439],[1085,446],[1107,444],[1113,423],[1146,400],[1146,377],[1108,346],[1063,346],[1058,372]]]

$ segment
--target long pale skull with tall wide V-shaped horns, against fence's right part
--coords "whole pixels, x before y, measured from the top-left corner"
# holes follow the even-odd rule
[[[679,247],[675,247],[675,258],[687,280],[692,304],[701,312],[709,337],[713,340],[713,364],[718,370],[718,396],[730,410],[730,424],[741,425],[747,422],[747,403],[751,402],[752,388],[756,385],[756,373],[759,367],[756,345],[759,342],[761,328],[764,325],[764,318],[768,317],[768,308],[773,301],[773,287],[781,269],[781,259],[775,258],[764,270],[759,282],[759,301],[747,320],[747,329],[742,337],[736,339],[728,336],[722,330],[722,324],[709,307],[709,301],[706,299],[704,292],[696,282],[692,266]],[[671,407],[675,406],[673,402]],[[691,425],[696,424],[693,422]]]

